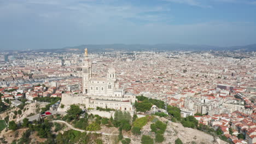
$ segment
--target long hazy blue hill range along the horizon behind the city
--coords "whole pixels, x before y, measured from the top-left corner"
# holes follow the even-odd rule
[[[101,45],[79,45],[68,46],[63,49],[42,49],[33,50],[33,52],[83,52],[85,47],[90,49],[90,52],[107,52],[113,50],[123,51],[256,51],[256,44],[220,47],[212,45],[186,45],[186,44],[101,44]]]

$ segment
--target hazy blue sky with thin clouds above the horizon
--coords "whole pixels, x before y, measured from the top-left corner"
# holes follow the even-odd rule
[[[0,0],[1,49],[256,43],[256,0]]]

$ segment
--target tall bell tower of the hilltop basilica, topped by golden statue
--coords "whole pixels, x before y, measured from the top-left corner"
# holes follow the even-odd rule
[[[91,63],[89,61],[89,58],[88,58],[88,50],[87,48],[84,49],[84,62],[83,62],[83,65],[82,65],[82,71],[83,71],[83,93],[87,93],[88,92],[88,83],[89,83],[89,80],[92,76],[91,74]]]

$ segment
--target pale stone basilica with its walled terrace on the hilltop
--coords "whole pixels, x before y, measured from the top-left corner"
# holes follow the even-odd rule
[[[119,88],[117,72],[109,68],[106,77],[92,77],[91,62],[88,58],[88,50],[84,52],[84,62],[82,65],[83,80],[81,94],[62,94],[61,104],[69,106],[72,104],[84,105],[86,109],[102,107],[122,111],[134,111],[133,104],[136,96],[132,93],[124,92]]]

